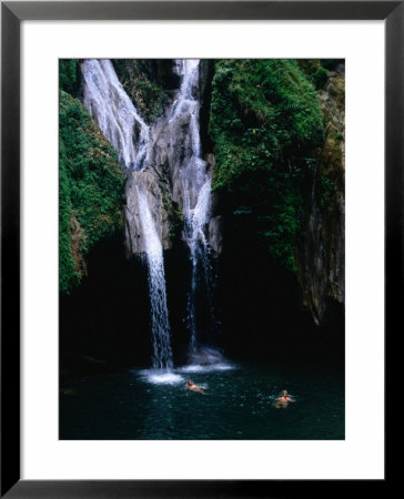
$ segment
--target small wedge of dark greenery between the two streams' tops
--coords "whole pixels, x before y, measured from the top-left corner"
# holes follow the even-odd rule
[[[148,78],[142,61],[135,59],[112,59],[117,75],[137,110],[148,123],[153,122],[168,102],[162,84]]]

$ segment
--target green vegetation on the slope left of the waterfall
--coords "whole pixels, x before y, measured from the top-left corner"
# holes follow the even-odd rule
[[[60,92],[59,109],[60,291],[85,273],[84,256],[122,228],[123,176],[118,156],[82,104]]]

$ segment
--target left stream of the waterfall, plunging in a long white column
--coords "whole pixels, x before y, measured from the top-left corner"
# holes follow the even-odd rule
[[[84,81],[83,103],[95,123],[118,152],[119,161],[129,171],[144,171],[151,149],[150,128],[139,115],[131,99],[118,80],[110,60],[85,60],[82,63]],[[145,175],[138,174],[138,175]],[[140,218],[143,251],[148,264],[149,295],[154,368],[173,366],[170,346],[170,323],[166,307],[163,248],[149,207],[147,184],[132,174],[133,210]],[[128,193],[127,193],[128,197]],[[139,234],[140,235],[140,234]]]

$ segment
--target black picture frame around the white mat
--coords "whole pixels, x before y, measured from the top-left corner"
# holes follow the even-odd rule
[[[403,1],[1,2],[1,497],[329,497],[344,480],[20,480],[20,23],[23,20],[384,20],[385,334],[403,303]],[[386,378],[387,380],[387,378]],[[386,383],[386,386],[388,383]],[[388,462],[386,456],[386,465]],[[384,480],[372,480],[385,493]],[[368,481],[367,481],[368,482]],[[351,480],[350,491],[364,485]],[[383,489],[382,489],[383,488]]]

